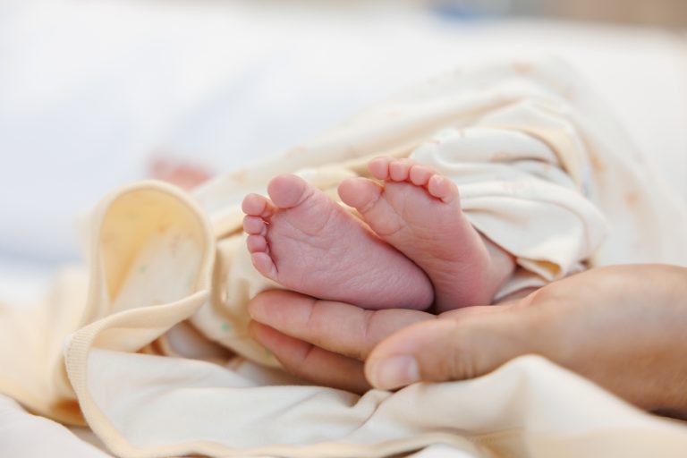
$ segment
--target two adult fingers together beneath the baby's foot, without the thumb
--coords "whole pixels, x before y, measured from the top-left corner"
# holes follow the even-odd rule
[[[363,310],[288,291],[260,293],[249,305],[250,334],[284,369],[319,385],[364,393],[363,360],[383,338],[436,318],[418,310]]]

